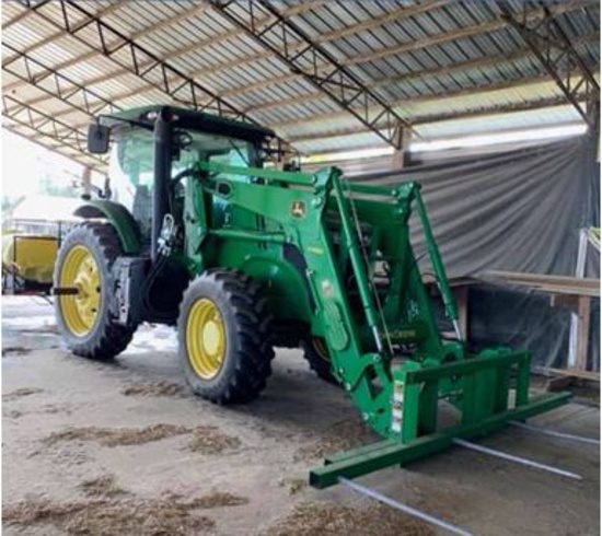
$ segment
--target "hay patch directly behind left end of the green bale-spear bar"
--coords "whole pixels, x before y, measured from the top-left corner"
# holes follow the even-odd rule
[[[379,441],[374,431],[360,420],[346,420],[331,427],[323,438],[303,445],[293,455],[296,462],[321,459],[329,454],[348,451]]]

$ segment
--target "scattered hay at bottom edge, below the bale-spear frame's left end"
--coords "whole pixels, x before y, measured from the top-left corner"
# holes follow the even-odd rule
[[[262,536],[430,536],[435,531],[392,508],[375,504],[366,509],[328,502],[301,502]]]

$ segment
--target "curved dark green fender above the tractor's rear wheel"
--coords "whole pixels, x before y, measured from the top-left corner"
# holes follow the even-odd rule
[[[134,217],[123,205],[106,199],[94,199],[78,207],[73,215],[83,219],[102,218],[115,228],[127,255],[140,252],[140,230]]]

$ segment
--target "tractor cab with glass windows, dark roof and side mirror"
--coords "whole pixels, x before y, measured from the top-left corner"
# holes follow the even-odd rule
[[[128,210],[150,248],[164,215],[183,213],[187,171],[198,162],[262,167],[273,137],[201,112],[148,106],[101,116],[90,126],[89,150],[111,152],[111,199]]]

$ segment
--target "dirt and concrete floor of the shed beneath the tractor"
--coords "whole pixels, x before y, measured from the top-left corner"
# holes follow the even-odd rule
[[[236,408],[192,396],[175,336],[143,327],[114,363],[61,348],[53,307],[2,303],[5,535],[444,534],[352,491],[309,488],[322,456],[378,438],[345,393],[279,350],[264,395]],[[599,438],[600,410],[533,419]],[[475,535],[600,534],[600,450],[509,429],[483,444],[580,481],[454,448],[358,479]]]

